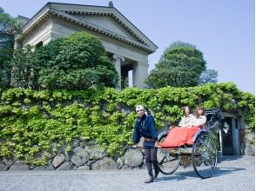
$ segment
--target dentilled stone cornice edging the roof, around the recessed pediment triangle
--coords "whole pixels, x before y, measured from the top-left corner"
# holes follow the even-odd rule
[[[56,6],[56,3],[54,3],[53,5]],[[64,4],[64,5],[66,5],[66,4]],[[61,18],[67,22],[71,22],[71,23],[80,25],[83,28],[85,28],[86,30],[98,32],[99,34],[101,34],[103,36],[108,36],[115,40],[118,40],[119,42],[130,44],[131,46],[136,47],[138,49],[144,49],[145,51],[147,51],[150,54],[152,54],[157,49],[157,46],[155,46],[152,42],[150,42],[150,43],[152,43],[153,45],[152,44],[149,45],[148,43],[145,42],[145,41],[150,41],[149,39],[148,40],[143,39],[143,38],[146,38],[145,35],[142,34],[143,37],[140,37],[136,34],[136,32],[139,31],[137,28],[135,29],[135,30],[138,30],[136,32],[133,31],[134,28],[133,28],[133,30],[131,30],[131,28],[129,26],[127,26],[127,25],[129,25],[129,23],[128,24],[127,24],[127,22],[125,23],[124,18],[122,18],[122,16],[119,16],[120,18],[118,18],[117,15],[121,14],[121,13],[119,13],[118,10],[116,10],[115,8],[94,7],[94,6],[91,6],[90,8],[91,8],[91,10],[88,10],[88,11],[84,11],[82,9],[80,9],[80,10],[57,10],[57,9],[52,8],[51,3],[47,3],[44,6],[44,8],[39,10],[37,12],[37,14],[35,16],[33,16],[30,19],[30,21],[24,25],[23,34],[20,36],[17,36],[16,41],[21,42],[25,36],[30,35],[34,30],[37,29],[38,26],[40,26],[42,23],[44,23],[51,16],[56,16],[56,17]],[[96,11],[96,10],[98,10],[98,11]],[[128,30],[129,33],[138,40],[138,42],[133,41],[133,40],[127,38],[126,36],[121,36],[111,30],[106,30],[96,24],[86,22],[82,19],[77,18],[77,16],[73,16],[73,15],[110,16],[112,19],[114,19],[120,25],[122,25],[125,28],[125,30]],[[122,19],[123,19],[123,21],[122,21]],[[132,23],[130,23],[130,24],[132,24]],[[135,26],[133,26],[133,27],[135,27]]]

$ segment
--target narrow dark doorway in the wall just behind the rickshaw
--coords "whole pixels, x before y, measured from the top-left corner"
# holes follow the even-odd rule
[[[226,117],[221,123],[222,154],[233,155],[232,118]]]

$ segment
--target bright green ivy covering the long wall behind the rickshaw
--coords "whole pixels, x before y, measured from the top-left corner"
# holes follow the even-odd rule
[[[69,152],[69,142],[77,138],[98,142],[110,155],[122,154],[131,144],[137,104],[152,110],[159,129],[166,122],[179,122],[183,106],[203,105],[241,114],[254,130],[254,102],[254,95],[239,91],[233,83],[122,91],[8,89],[1,92],[0,159],[44,165],[60,148]]]

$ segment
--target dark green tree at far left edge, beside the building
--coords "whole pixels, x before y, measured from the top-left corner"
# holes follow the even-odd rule
[[[10,87],[10,60],[14,48],[14,34],[20,32],[17,19],[0,7],[0,89]]]

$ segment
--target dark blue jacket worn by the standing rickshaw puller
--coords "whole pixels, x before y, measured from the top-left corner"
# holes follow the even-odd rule
[[[135,128],[132,135],[132,142],[138,143],[141,137],[158,140],[158,131],[155,126],[152,115],[143,115],[135,122]]]

